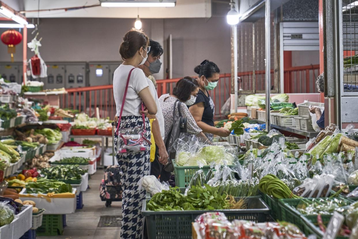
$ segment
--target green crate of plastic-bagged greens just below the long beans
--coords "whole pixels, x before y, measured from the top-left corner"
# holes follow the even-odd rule
[[[344,199],[343,197],[339,197],[338,199],[345,201],[347,204],[350,204],[351,201]],[[302,199],[280,199],[279,207],[281,211],[281,219],[282,221],[287,221],[289,223],[296,224],[300,230],[304,230],[304,223],[302,218],[306,215],[301,214],[298,210],[296,210],[297,205],[301,202]],[[312,199],[308,199],[312,200]]]

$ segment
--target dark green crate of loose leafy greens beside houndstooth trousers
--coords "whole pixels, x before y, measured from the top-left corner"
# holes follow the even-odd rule
[[[217,211],[223,212],[229,221],[234,219],[267,221],[267,215],[270,212],[267,205],[260,197],[248,198],[250,198],[247,200],[248,209]],[[145,216],[147,222],[149,239],[192,239],[192,222],[198,215],[205,212],[209,211],[146,211],[145,200],[142,205],[142,215]]]

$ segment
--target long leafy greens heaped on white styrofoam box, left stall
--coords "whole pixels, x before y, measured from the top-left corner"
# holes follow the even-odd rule
[[[68,183],[51,180],[46,178],[39,178],[36,182],[28,182],[26,185],[27,193],[65,193],[72,192],[72,186]]]

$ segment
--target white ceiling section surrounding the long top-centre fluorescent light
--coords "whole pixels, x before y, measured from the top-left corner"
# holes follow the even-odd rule
[[[39,0],[3,0],[15,10],[37,10]],[[15,4],[15,2],[17,4]],[[98,0],[40,0],[40,9],[69,8],[98,4]],[[17,8],[17,9],[16,9]],[[40,11],[40,18],[210,18],[211,0],[176,0],[172,8],[103,8]],[[25,13],[37,18],[38,12]]]

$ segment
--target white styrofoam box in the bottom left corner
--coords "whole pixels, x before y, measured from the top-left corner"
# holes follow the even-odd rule
[[[19,239],[32,227],[32,205],[24,205],[14,220],[0,228],[0,238]]]

